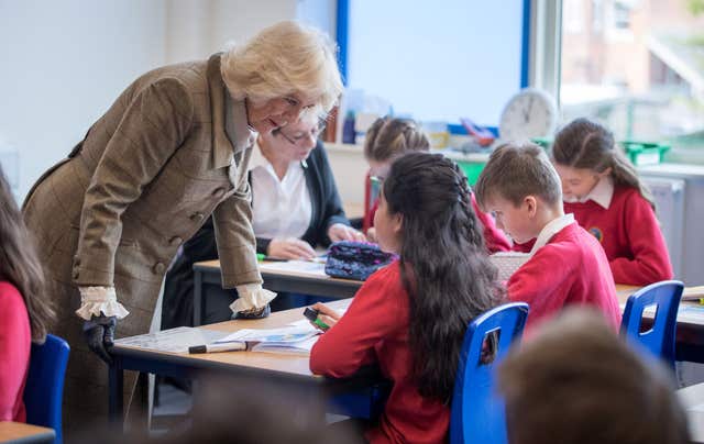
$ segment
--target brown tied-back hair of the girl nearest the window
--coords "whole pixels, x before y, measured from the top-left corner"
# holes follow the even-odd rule
[[[614,134],[598,122],[580,118],[560,130],[552,144],[552,159],[559,165],[596,173],[612,168],[614,185],[636,188],[656,208],[650,190],[614,142]]]

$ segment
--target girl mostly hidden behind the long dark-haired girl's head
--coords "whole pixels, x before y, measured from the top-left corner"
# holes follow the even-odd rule
[[[378,200],[373,196],[372,184],[380,182],[387,174],[392,163],[398,156],[409,152],[427,152],[430,149],[428,136],[418,124],[410,119],[380,118],[366,132],[364,140],[364,157],[370,164],[370,177],[366,180],[365,206],[367,209],[362,221],[362,229],[370,241],[376,241],[374,227],[374,212]],[[482,223],[484,242],[490,253],[506,252],[510,249],[510,243],[491,215],[482,212],[476,204],[474,196],[470,193],[470,202],[474,213]]]

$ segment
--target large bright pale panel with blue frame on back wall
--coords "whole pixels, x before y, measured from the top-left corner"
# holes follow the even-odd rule
[[[525,3],[350,0],[348,88],[391,103],[398,115],[496,125],[508,98],[527,85]]]

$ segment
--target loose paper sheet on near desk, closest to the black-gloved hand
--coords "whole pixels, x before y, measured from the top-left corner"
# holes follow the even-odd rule
[[[140,334],[138,336],[117,340],[116,345],[152,349],[155,352],[187,353],[188,347],[210,344],[224,336],[227,332],[179,326],[157,333]]]

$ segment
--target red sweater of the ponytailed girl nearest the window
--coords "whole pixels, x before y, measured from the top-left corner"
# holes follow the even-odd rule
[[[650,203],[631,187],[615,187],[608,209],[587,200],[564,202],[564,212],[604,247],[618,284],[645,286],[672,279],[672,265]]]

